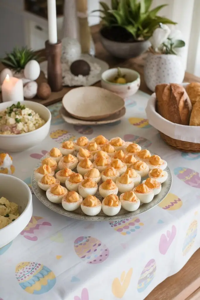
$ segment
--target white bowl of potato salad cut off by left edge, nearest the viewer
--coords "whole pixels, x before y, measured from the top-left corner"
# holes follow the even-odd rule
[[[0,174],[0,248],[26,227],[33,213],[31,190],[22,180]]]

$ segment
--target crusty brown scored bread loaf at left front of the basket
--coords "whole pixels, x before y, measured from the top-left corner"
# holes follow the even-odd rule
[[[181,125],[189,125],[192,104],[182,85],[175,83],[156,86],[158,113],[165,119]]]

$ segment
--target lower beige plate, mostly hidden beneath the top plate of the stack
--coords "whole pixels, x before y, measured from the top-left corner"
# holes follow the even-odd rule
[[[103,124],[109,124],[109,123],[115,123],[119,121],[122,117],[124,117],[126,113],[126,108],[123,107],[120,111],[117,113],[109,116],[108,118],[102,119],[100,121],[84,121],[73,118],[67,110],[64,109],[64,107],[61,107],[60,114],[63,118],[63,120],[69,124],[73,125],[103,125]]]

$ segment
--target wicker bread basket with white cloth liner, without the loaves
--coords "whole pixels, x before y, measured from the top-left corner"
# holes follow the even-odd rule
[[[186,87],[188,83],[183,83]],[[156,94],[152,94],[146,114],[151,124],[160,132],[161,138],[170,146],[184,152],[200,152],[200,126],[186,126],[172,123],[156,112]]]

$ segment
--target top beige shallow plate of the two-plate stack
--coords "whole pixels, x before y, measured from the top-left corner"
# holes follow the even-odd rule
[[[124,107],[124,99],[96,86],[74,88],[62,100],[64,108],[76,119],[97,121],[108,118]]]

